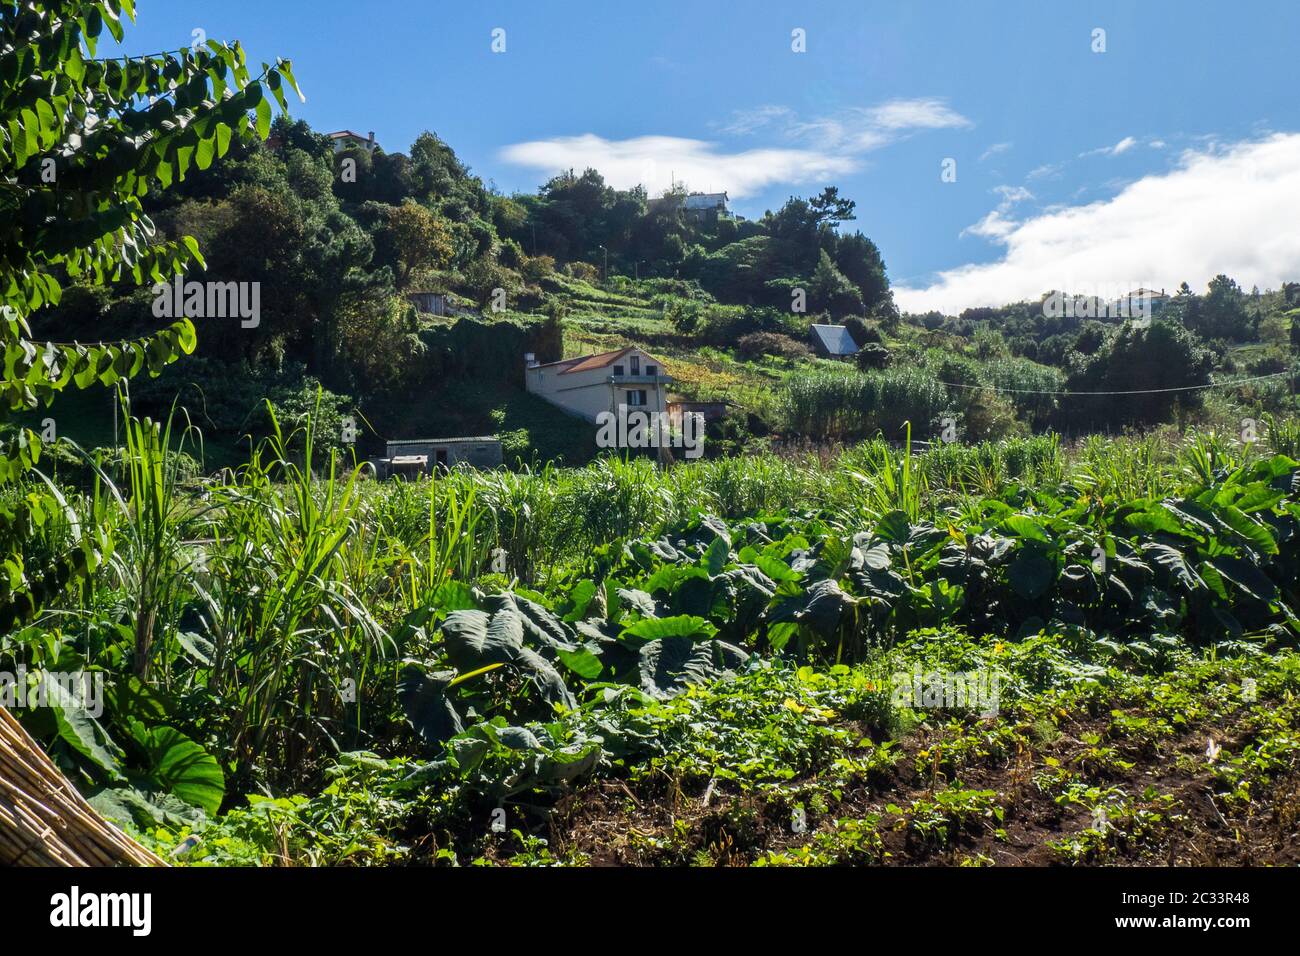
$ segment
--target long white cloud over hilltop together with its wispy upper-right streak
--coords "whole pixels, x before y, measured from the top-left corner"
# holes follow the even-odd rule
[[[914,130],[970,125],[970,120],[939,99],[889,100],[806,120],[789,107],[763,105],[733,113],[720,131],[732,135],[775,131],[781,146],[727,150],[682,137],[604,139],[586,133],[515,143],[504,147],[500,157],[543,174],[590,166],[616,189],[641,185],[650,195],[684,182],[694,190],[727,190],[732,199],[742,199],[774,183],[824,182],[852,173],[861,168],[862,153]]]

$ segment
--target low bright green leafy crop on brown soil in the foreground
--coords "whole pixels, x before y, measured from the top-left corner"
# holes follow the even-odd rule
[[[1300,769],[1294,652],[1205,659],[1180,641],[1165,652],[931,631],[855,667],[755,659],[668,700],[604,691],[532,731],[480,724],[432,765],[343,754],[318,796],[255,799],[208,827],[191,861],[582,862],[597,847],[556,842],[552,826],[552,852],[528,831],[546,832],[533,810],[588,771],[632,788],[619,805],[636,826],[620,814],[615,842],[642,862],[975,864],[971,847],[1008,847],[1031,805],[1063,832],[1036,847],[1044,862],[1158,855],[1186,816],[1169,792],[1131,786],[1121,754],[1162,754],[1162,777],[1209,782],[1234,818]],[[1000,675],[996,717],[892,700],[890,674],[953,666]],[[1197,753],[1202,728],[1223,743],[1214,757]],[[1197,749],[1179,756],[1186,736]],[[997,787],[963,783],[998,769]],[[650,817],[638,805],[651,800],[675,803],[680,825],[641,832]],[[514,832],[491,829],[498,808]],[[188,834],[153,836],[169,847]]]

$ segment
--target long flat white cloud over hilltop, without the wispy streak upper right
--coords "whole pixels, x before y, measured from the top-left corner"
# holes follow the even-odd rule
[[[828,155],[816,150],[724,152],[715,143],[702,139],[604,139],[592,133],[507,146],[502,150],[502,159],[545,174],[567,169],[581,172],[593,166],[615,189],[642,185],[651,195],[658,195],[676,181],[696,190],[727,190],[732,199],[753,195],[777,182],[832,179],[852,173],[858,166],[852,156]]]

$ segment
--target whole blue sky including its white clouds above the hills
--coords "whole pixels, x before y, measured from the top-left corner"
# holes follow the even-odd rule
[[[138,5],[129,51],[239,38],[317,129],[434,130],[507,193],[595,165],[755,217],[838,185],[913,308],[1300,278],[1292,0]]]

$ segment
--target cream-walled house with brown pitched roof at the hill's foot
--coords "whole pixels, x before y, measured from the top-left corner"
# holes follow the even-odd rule
[[[525,356],[525,385],[569,415],[595,421],[601,412],[666,412],[672,376],[663,362],[638,346],[538,364]]]

